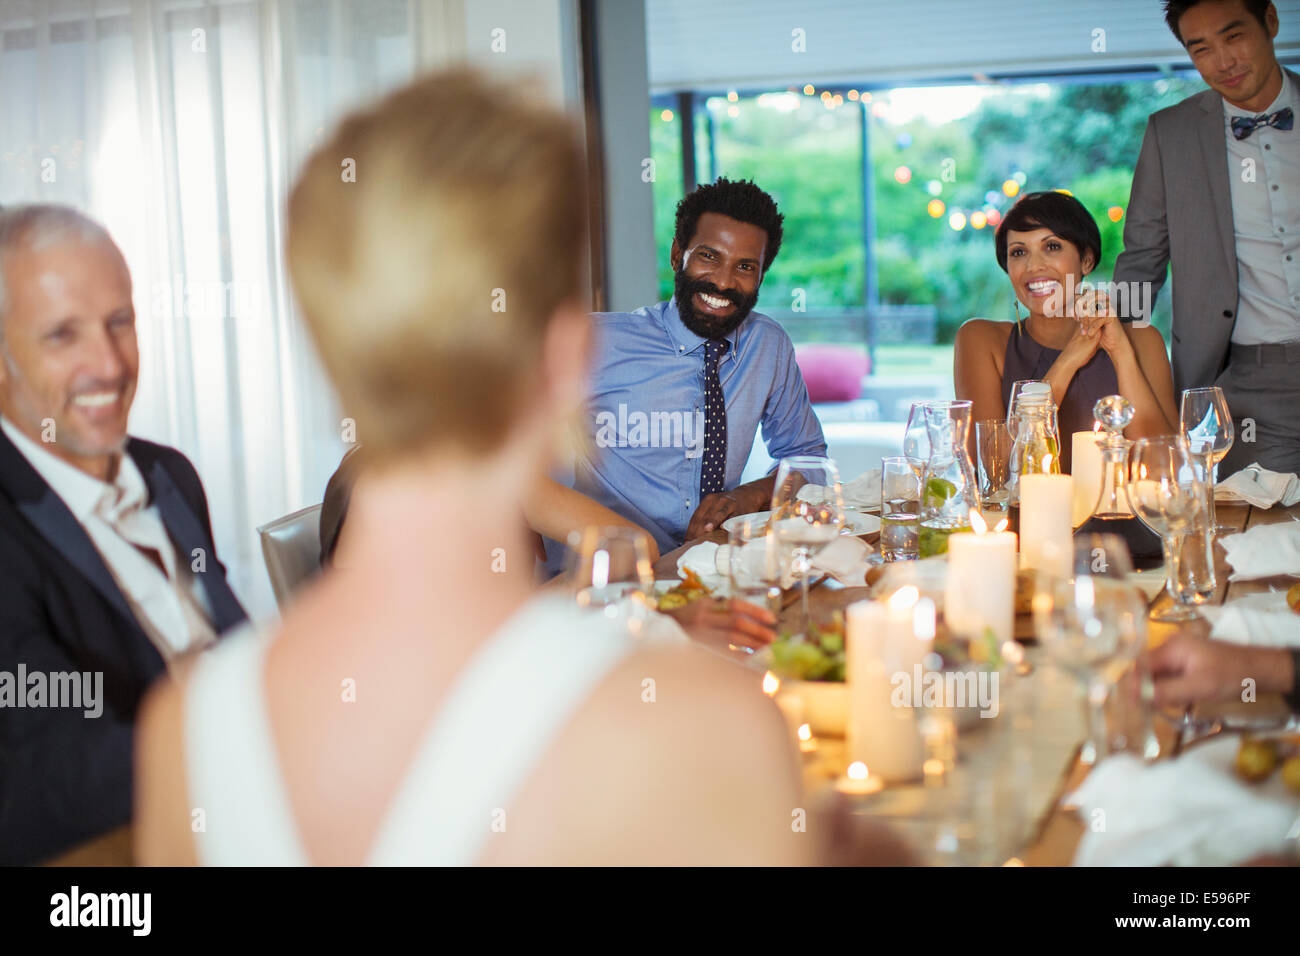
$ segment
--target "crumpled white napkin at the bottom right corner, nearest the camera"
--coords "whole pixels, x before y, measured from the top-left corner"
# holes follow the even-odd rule
[[[1150,766],[1130,754],[1102,761],[1067,799],[1086,827],[1074,865],[1228,866],[1284,853],[1300,800],[1280,774],[1240,782],[1239,744],[1212,740]]]

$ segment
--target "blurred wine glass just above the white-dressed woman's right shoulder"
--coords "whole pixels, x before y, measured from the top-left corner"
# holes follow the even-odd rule
[[[644,531],[589,525],[568,536],[568,578],[580,607],[623,617],[628,631],[646,628],[654,601],[650,540]]]

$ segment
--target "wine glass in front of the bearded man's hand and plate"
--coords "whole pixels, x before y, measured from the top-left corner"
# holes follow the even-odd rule
[[[783,458],[772,489],[771,528],[781,550],[783,571],[789,568],[801,583],[803,635],[811,626],[809,576],[812,557],[840,536],[844,523],[844,493],[835,462],[816,455]]]

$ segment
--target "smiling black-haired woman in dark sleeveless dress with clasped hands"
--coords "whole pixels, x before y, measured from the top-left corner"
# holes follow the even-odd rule
[[[1026,194],[998,226],[996,248],[1028,316],[1017,306],[1015,323],[971,319],[957,332],[954,385],[957,398],[972,402],[972,420],[1005,419],[1017,381],[1048,382],[1066,472],[1070,436],[1092,429],[1092,406],[1105,395],[1132,402],[1128,438],[1176,432],[1160,332],[1122,324],[1105,293],[1079,290],[1101,260],[1101,233],[1083,203],[1056,191]]]

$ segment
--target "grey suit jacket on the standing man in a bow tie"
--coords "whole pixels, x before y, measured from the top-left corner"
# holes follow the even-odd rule
[[[1286,70],[1292,82],[1297,78]],[[1234,176],[1240,170],[1232,170]],[[1236,323],[1236,238],[1223,99],[1213,90],[1153,113],[1124,213],[1115,282],[1150,282],[1174,267],[1174,389],[1213,385]]]

